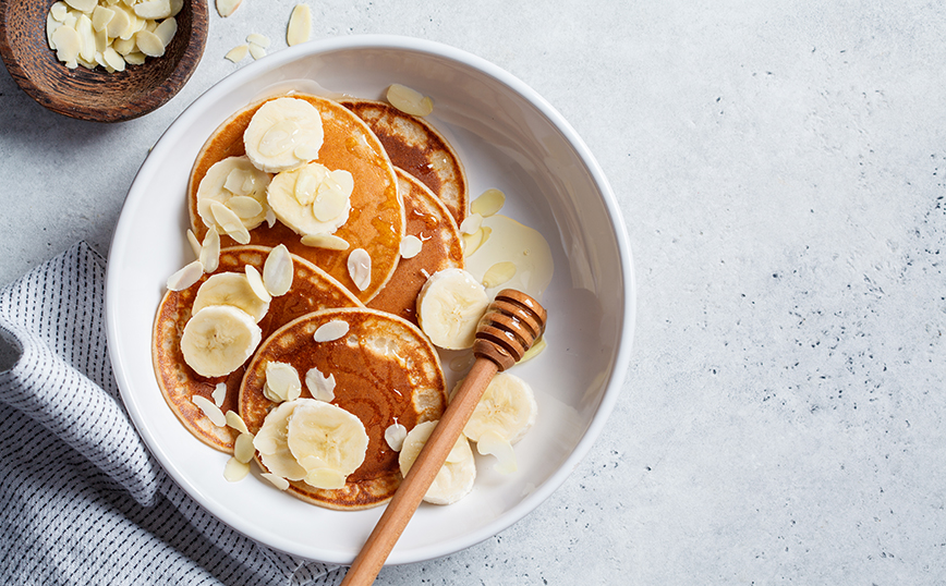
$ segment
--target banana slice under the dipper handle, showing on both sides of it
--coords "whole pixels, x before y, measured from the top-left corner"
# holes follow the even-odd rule
[[[424,422],[415,425],[408,432],[398,456],[403,476],[408,476],[408,472],[417,460],[421,449],[436,425],[437,422]],[[466,438],[460,436],[430,488],[424,495],[424,500],[432,504],[452,504],[473,490],[474,480],[476,480],[476,461],[473,459],[473,450],[470,449]]]

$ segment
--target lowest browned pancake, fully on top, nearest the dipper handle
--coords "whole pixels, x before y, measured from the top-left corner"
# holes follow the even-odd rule
[[[349,331],[332,342],[315,342],[319,326],[335,320]],[[446,381],[437,352],[412,323],[374,309],[325,309],[303,316],[264,340],[240,387],[240,415],[252,434],[277,405],[263,389],[269,362],[291,364],[304,379],[311,368],[336,380],[332,404],[354,414],[365,426],[365,461],[343,488],[325,490],[290,481],[288,491],[304,501],[337,510],[356,510],[387,502],[401,484],[398,452],[385,430],[400,423],[409,430],[439,419],[447,405]],[[303,398],[311,398],[303,384]],[[256,462],[266,471],[259,454]]]

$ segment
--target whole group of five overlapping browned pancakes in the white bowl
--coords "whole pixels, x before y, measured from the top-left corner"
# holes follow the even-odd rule
[[[256,353],[226,377],[206,378],[183,359],[180,340],[205,274],[183,291],[168,291],[155,320],[153,355],[158,383],[180,422],[204,443],[232,453],[239,435],[214,425],[194,402],[208,400],[225,382],[220,404],[238,413],[250,432],[257,432],[277,404],[264,394],[265,365],[291,364],[301,373],[318,367],[336,378],[332,403],[353,413],[365,426],[369,443],[364,463],[343,488],[316,489],[303,481],[289,492],[331,509],[381,504],[397,490],[401,475],[397,452],[384,432],[392,423],[411,429],[439,418],[447,403],[446,381],[436,350],[416,326],[414,307],[426,279],[445,268],[464,267],[458,225],[468,207],[465,173],[456,151],[426,121],[377,101],[332,101],[292,94],[318,109],[325,142],[317,161],[352,174],[354,190],[348,221],[335,233],[348,251],[303,245],[288,227],[266,222],[250,231],[250,245],[221,236],[217,272],[263,270],[271,247],[292,253],[294,279],[286,295],[274,297],[259,322],[263,342]],[[276,99],[270,98],[270,99]],[[263,100],[237,112],[207,139],[194,162],[187,188],[191,229],[203,241],[208,228],[197,213],[197,187],[208,169],[228,157],[245,154],[243,132]],[[423,246],[401,258],[407,235]],[[348,271],[350,251],[364,248],[372,258],[371,283],[354,285]],[[315,351],[312,333],[328,320],[349,322],[347,335]],[[302,396],[311,396],[303,384]],[[257,463],[265,469],[262,462]]]

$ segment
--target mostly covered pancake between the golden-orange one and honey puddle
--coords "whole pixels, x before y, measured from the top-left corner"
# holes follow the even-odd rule
[[[395,170],[404,199],[407,234],[419,237],[423,246],[416,256],[401,258],[395,276],[367,306],[417,325],[416,301],[421,288],[439,270],[464,267],[463,241],[450,211],[434,193],[403,169]]]

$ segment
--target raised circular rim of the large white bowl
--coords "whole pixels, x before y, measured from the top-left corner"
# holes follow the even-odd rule
[[[501,515],[494,522],[485,525],[480,530],[471,532],[450,541],[446,541],[438,547],[426,548],[424,550],[416,551],[412,556],[399,554],[397,548],[395,548],[386,563],[391,565],[398,565],[405,563],[416,563],[421,561],[440,558],[444,556],[449,556],[499,534],[500,532],[509,528],[513,524],[521,521],[525,515],[534,511],[542,502],[547,500],[547,498],[565,483],[565,480],[568,478],[569,475],[571,475],[572,472],[574,472],[574,469],[579,466],[581,461],[591,450],[594,442],[601,436],[601,432],[604,429],[608,417],[610,416],[611,412],[615,408],[615,405],[617,404],[620,391],[627,378],[631,359],[631,350],[633,345],[633,334],[636,318],[636,288],[633,270],[633,256],[620,207],[617,203],[610,184],[604,174],[604,171],[602,170],[597,160],[592,155],[587,145],[578,135],[571,124],[566,121],[566,119],[545,98],[539,96],[534,89],[532,89],[524,82],[520,81],[511,73],[481,57],[438,41],[400,35],[349,35],[311,40],[295,47],[290,47],[288,49],[282,49],[280,51],[270,53],[265,59],[250,63],[241,68],[240,70],[231,73],[230,75],[223,77],[221,81],[217,82],[206,91],[204,91],[204,94],[202,94],[197,99],[195,99],[194,102],[192,102],[184,111],[182,111],[181,114],[174,120],[174,122],[171,123],[171,125],[166,130],[163,135],[156,143],[151,154],[160,149],[161,144],[166,137],[173,137],[175,134],[183,132],[183,129],[189,126],[190,122],[192,120],[195,120],[196,117],[199,115],[201,112],[198,112],[198,109],[204,102],[216,100],[219,96],[225,95],[232,88],[251,82],[254,77],[256,77],[265,70],[278,69],[288,62],[295,61],[306,56],[313,57],[317,54],[347,50],[386,49],[416,52],[436,58],[446,58],[459,62],[464,66],[476,70],[480,73],[492,77],[495,81],[507,86],[512,91],[519,94],[524,100],[535,107],[536,110],[543,117],[545,117],[553,126],[558,129],[565,135],[568,143],[572,146],[572,148],[574,148],[578,157],[586,166],[589,174],[592,176],[594,183],[598,186],[598,191],[601,193],[608,220],[610,221],[613,227],[613,235],[616,241],[620,259],[620,267],[618,268],[621,273],[621,290],[619,292],[616,291],[615,293],[620,293],[623,300],[620,306],[619,316],[620,337],[617,342],[617,347],[615,349],[614,364],[611,365],[611,371],[606,388],[602,393],[601,402],[594,417],[589,424],[587,429],[585,430],[579,442],[575,444],[574,450],[572,450],[572,452],[562,462],[558,469],[555,471],[555,473],[551,474],[541,486],[536,487],[535,490],[533,490],[530,495],[525,496],[522,501],[510,508],[508,511],[506,511],[504,515]],[[142,168],[138,170],[138,174],[142,174],[143,170],[145,170],[148,164],[148,159],[145,159]],[[135,178],[135,180],[136,179],[137,176]],[[132,182],[132,186],[130,187],[129,196],[123,204],[122,212],[124,212],[125,206],[128,206],[133,199],[133,191],[134,181]],[[123,221],[123,218],[124,213],[120,215],[118,224],[112,235],[112,244],[123,237],[128,237],[128,233],[130,231],[129,222]],[[114,263],[114,260],[117,258],[120,258],[121,256],[122,252],[117,246],[111,245],[109,249],[108,266],[116,266],[117,263]],[[118,335],[117,317],[114,315],[114,312],[112,310],[112,304],[108,303],[108,300],[111,296],[109,295],[109,293],[117,293],[118,290],[119,283],[117,282],[117,279],[112,278],[111,274],[107,272],[106,310],[107,334],[110,340],[109,354],[112,364],[116,366],[116,378],[119,383],[122,399],[124,400],[126,392],[125,389],[129,388],[129,380],[124,375],[124,369],[122,368],[122,356],[118,353],[116,344],[111,343],[111,340],[113,340]],[[133,410],[129,411],[132,419],[135,423],[136,428],[141,429],[143,426],[143,422],[138,420],[138,416]],[[147,442],[147,438],[145,439]],[[168,475],[171,476],[179,486],[181,486],[182,488],[186,487],[186,483],[184,483],[182,478],[179,478],[177,476],[173,466],[165,466],[162,462],[162,467],[165,468],[165,472],[168,473]],[[197,501],[205,510],[214,514],[216,518],[220,520],[225,524],[230,525],[229,523],[223,521],[223,517],[215,510],[216,508],[213,505],[213,503],[209,503],[206,499],[203,498],[202,495],[195,493],[196,491],[186,489],[185,492],[187,492],[191,498]],[[232,527],[232,525],[230,526]],[[240,530],[237,527],[233,528]],[[277,546],[272,545],[269,545],[269,547],[279,549]],[[330,560],[317,561],[331,562]]]

